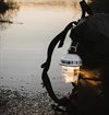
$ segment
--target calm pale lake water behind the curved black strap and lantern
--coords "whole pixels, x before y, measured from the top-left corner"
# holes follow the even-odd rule
[[[50,41],[78,14],[69,8],[22,7],[13,24],[0,32],[0,85],[41,91],[41,68]],[[61,79],[60,58],[71,39],[69,34],[61,49],[56,48],[49,70],[56,91],[71,91]]]

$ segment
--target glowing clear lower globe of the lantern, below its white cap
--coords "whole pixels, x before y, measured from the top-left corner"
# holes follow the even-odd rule
[[[75,82],[77,83],[80,73],[80,67],[66,67],[62,66],[62,78],[65,83]]]

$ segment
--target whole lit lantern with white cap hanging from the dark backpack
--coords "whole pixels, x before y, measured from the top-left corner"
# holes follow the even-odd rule
[[[66,54],[61,58],[62,78],[65,83],[77,83],[82,59],[76,54]]]

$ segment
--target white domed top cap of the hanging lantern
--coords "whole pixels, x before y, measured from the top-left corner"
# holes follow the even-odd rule
[[[82,66],[82,59],[78,55],[76,54],[65,54],[61,58],[61,66],[69,66],[69,67],[76,67],[76,66]]]

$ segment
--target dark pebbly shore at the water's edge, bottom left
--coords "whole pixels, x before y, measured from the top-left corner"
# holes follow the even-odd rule
[[[33,92],[0,85],[0,115],[66,115],[51,108],[47,92]]]

